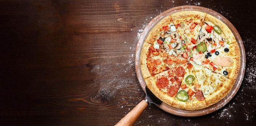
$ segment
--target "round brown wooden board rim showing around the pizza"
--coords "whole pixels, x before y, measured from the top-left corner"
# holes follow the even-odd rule
[[[242,84],[243,77],[244,77],[244,70],[245,70],[245,66],[246,66],[246,56],[245,56],[242,39],[241,39],[238,31],[236,30],[236,28],[221,14],[219,14],[213,10],[210,10],[208,8],[203,8],[200,6],[178,6],[175,8],[168,9],[165,12],[159,14],[157,17],[155,17],[154,19],[152,19],[152,21],[149,22],[149,24],[145,27],[145,30],[141,33],[140,39],[138,40],[136,51],[135,51],[136,74],[138,77],[138,81],[140,82],[140,85],[141,85],[143,91],[145,92],[146,83],[144,81],[144,78],[142,77],[141,69],[140,69],[140,53],[141,53],[143,42],[144,42],[146,36],[148,35],[148,33],[150,32],[150,30],[155,26],[155,24],[157,24],[159,21],[161,21],[166,16],[168,16],[172,13],[183,11],[183,10],[196,10],[196,11],[204,12],[204,13],[213,15],[214,17],[218,18],[223,23],[225,23],[230,28],[232,33],[234,34],[235,39],[238,42],[240,54],[241,54],[240,71],[239,71],[238,77],[236,79],[236,82],[235,82],[234,86],[232,87],[230,93],[227,94],[227,96],[225,98],[223,98],[222,100],[220,100],[219,102],[217,102],[207,108],[203,108],[203,109],[199,109],[199,110],[195,110],[195,111],[189,111],[189,110],[175,108],[175,107],[172,107],[164,102],[161,105],[158,105],[158,107],[161,108],[162,110],[164,110],[168,113],[171,113],[171,114],[175,114],[177,116],[184,116],[184,117],[202,116],[202,115],[217,111],[218,109],[220,109],[224,105],[226,105],[235,96],[240,85]]]

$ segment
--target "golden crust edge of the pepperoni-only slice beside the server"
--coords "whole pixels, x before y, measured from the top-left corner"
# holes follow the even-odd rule
[[[145,82],[148,88],[153,92],[155,96],[157,96],[157,98],[159,98],[160,100],[162,100],[163,102],[169,105],[172,104],[175,97],[174,96],[171,97],[167,93],[164,93],[163,91],[159,90],[156,85],[156,80],[154,79],[154,77],[146,78]]]

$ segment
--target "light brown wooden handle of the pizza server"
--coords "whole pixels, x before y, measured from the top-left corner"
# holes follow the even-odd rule
[[[147,108],[148,103],[142,100],[137,104],[131,112],[124,116],[115,126],[132,126],[137,118],[142,114],[142,112]]]

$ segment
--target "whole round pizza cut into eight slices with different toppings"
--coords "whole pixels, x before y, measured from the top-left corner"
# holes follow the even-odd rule
[[[163,18],[149,32],[140,66],[146,85],[159,99],[197,110],[230,92],[240,69],[240,50],[219,19],[181,11]]]

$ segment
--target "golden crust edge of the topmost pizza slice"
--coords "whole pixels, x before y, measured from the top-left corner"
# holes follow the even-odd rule
[[[176,24],[177,20],[184,19],[184,18],[191,18],[197,15],[198,19],[204,20],[206,13],[199,12],[199,11],[181,11],[174,14],[171,14],[172,21]],[[202,25],[202,21],[200,21]]]

